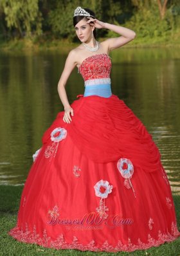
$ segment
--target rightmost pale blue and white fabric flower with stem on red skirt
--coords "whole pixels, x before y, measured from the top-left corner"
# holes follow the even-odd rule
[[[134,173],[134,167],[132,165],[132,162],[127,158],[120,158],[117,163],[118,170],[120,171],[120,174],[122,174],[122,177],[125,178],[124,185],[127,188],[132,187],[131,178],[132,174]],[[132,191],[134,193],[134,197],[136,197],[134,188],[132,187]]]

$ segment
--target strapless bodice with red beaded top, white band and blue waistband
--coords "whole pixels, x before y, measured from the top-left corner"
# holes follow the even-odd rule
[[[80,65],[84,78],[84,96],[98,95],[109,98],[111,91],[111,59],[106,53],[87,57]]]

